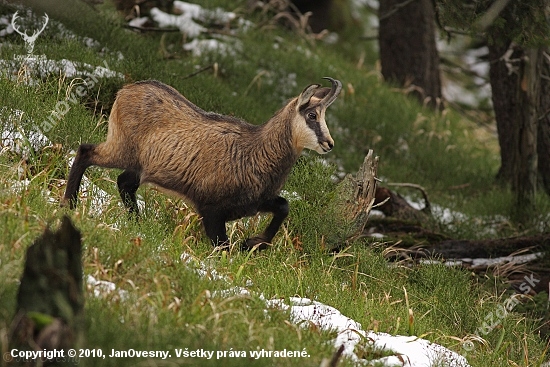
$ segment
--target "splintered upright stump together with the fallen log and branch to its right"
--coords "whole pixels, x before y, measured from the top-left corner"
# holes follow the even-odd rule
[[[346,243],[378,232],[386,236],[385,253],[391,261],[433,261],[460,266],[477,274],[491,272],[508,279],[514,287],[521,285],[528,274],[537,280],[533,281],[533,292],[548,292],[550,270],[548,260],[541,254],[550,251],[550,234],[490,240],[451,239],[423,226],[434,220],[426,190],[410,183],[388,184],[420,190],[425,204],[423,209],[416,209],[400,194],[377,187],[377,169],[378,157],[374,158],[369,150],[357,175],[347,175],[338,186],[341,212],[351,223],[351,235]],[[373,208],[385,217],[369,218]],[[337,247],[333,251],[341,249]],[[503,259],[492,261],[495,258]]]

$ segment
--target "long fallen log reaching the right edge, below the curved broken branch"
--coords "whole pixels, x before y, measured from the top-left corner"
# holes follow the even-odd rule
[[[449,239],[417,223],[392,218],[371,219],[369,225],[387,237],[390,261],[439,262],[479,275],[491,273],[518,286],[528,274],[539,280],[532,290],[548,292],[550,234],[488,240]]]

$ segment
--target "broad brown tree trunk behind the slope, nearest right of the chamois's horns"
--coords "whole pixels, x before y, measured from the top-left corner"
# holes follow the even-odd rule
[[[382,0],[379,9],[382,75],[409,87],[421,103],[441,108],[439,54],[431,0]]]

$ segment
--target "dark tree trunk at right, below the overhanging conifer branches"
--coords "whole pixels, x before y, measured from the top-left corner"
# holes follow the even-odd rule
[[[538,113],[545,103],[549,104],[549,97],[541,96],[542,50],[524,50],[508,42],[489,45],[489,57],[501,157],[497,180],[511,184],[514,215],[523,221],[534,209],[539,154],[541,176],[550,184],[550,132],[548,123],[544,125],[539,121]],[[545,81],[545,88],[549,88],[547,83]],[[537,130],[540,131],[538,138]]]

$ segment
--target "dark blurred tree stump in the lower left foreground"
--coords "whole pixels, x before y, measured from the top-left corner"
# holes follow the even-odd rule
[[[84,337],[83,310],[81,237],[65,216],[57,232],[47,228],[27,249],[10,328],[10,350],[43,354],[39,358],[15,358],[11,364],[66,365],[70,362],[67,350],[78,348]],[[56,354],[44,355],[54,349]]]

